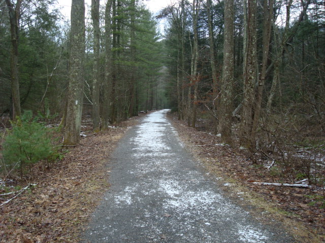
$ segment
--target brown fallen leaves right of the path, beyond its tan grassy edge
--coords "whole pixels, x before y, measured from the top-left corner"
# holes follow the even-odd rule
[[[271,175],[267,168],[253,164],[251,160],[247,159],[245,150],[230,146],[205,146],[206,144],[220,144],[220,138],[187,127],[177,118],[171,118],[178,134],[189,145],[192,153],[205,161],[205,168],[209,174],[228,179],[234,178],[249,190],[253,190],[264,197],[266,201],[271,201],[282,210],[290,212],[287,217],[302,221],[306,226],[311,226],[310,231],[315,229],[317,234],[323,235],[325,239],[325,202],[323,199],[322,201],[317,200],[318,196],[322,196],[321,191],[296,187],[256,185],[254,182],[293,184],[295,181],[285,177],[283,173],[278,176]]]

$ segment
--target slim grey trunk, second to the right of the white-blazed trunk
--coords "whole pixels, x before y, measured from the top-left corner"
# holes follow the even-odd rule
[[[109,122],[109,107],[110,107],[110,92],[109,84],[111,80],[111,9],[112,0],[108,0],[105,7],[105,80],[104,80],[104,100],[103,100],[103,119],[102,119],[102,129],[108,128]]]

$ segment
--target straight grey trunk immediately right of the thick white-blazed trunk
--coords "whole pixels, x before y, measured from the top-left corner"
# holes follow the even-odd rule
[[[92,130],[100,131],[100,0],[91,0],[91,18],[93,25],[93,81],[92,81]]]

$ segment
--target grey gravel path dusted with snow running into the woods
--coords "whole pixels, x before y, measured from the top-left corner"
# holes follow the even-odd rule
[[[89,242],[295,242],[262,225],[217,188],[161,110],[119,142],[111,187],[85,233]]]

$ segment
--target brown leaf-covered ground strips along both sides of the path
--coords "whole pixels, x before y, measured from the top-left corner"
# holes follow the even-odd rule
[[[47,163],[37,164],[37,176],[32,181],[8,181],[6,186],[36,186],[0,206],[0,242],[77,242],[89,215],[109,188],[110,154],[142,116],[97,134],[92,134],[91,125],[86,123],[86,137],[79,146],[69,148],[63,159],[49,168]],[[325,242],[325,209],[317,200],[322,191],[253,184],[285,181],[281,181],[281,175],[246,159],[244,151],[222,146],[217,136],[189,128],[172,115],[170,118],[184,144],[230,196],[245,198],[239,201],[244,207],[253,207],[256,216],[282,221],[298,242]],[[6,192],[0,190],[0,194]],[[1,195],[0,205],[9,198]]]

